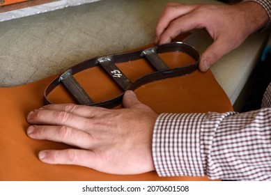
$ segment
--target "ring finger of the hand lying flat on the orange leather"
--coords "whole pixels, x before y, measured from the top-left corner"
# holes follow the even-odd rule
[[[27,129],[27,134],[32,139],[51,140],[84,149],[95,148],[91,134],[72,127],[33,125]]]

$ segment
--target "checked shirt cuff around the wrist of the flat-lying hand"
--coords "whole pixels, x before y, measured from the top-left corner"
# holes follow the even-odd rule
[[[201,121],[205,114],[161,114],[153,131],[153,161],[159,176],[205,176]]]

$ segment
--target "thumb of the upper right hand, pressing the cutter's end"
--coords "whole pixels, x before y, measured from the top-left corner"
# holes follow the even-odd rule
[[[213,42],[212,45],[210,45],[201,55],[199,70],[206,72],[212,66],[212,64],[231,51],[231,49],[226,47],[226,45],[228,45],[227,42],[219,39],[215,40],[215,42]]]

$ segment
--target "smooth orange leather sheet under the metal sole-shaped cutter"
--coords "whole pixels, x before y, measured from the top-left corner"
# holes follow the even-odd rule
[[[179,54],[180,52],[177,53],[176,58],[172,56],[173,54],[169,54],[168,63],[173,62],[173,65],[174,61],[187,63],[185,60],[181,60],[183,56]],[[164,59],[167,61],[167,56],[164,56]],[[139,62],[132,62],[134,65],[142,66],[142,68],[135,69],[148,72],[148,68],[144,68],[144,65]],[[120,64],[120,67],[123,67],[123,72],[125,72],[125,67],[127,67],[125,63]],[[130,74],[129,72],[133,72],[128,69],[125,72],[127,75]],[[96,71],[94,75],[100,81],[86,81],[91,71]],[[110,81],[107,81],[107,78],[99,71],[93,68],[93,70],[86,70],[75,75],[84,89],[91,93],[93,100],[109,98],[112,94],[119,92],[112,84],[107,85]],[[146,74],[144,71],[139,71],[135,75],[144,75]],[[131,73],[130,77],[134,77],[133,75]],[[118,176],[100,173],[81,166],[50,165],[40,162],[38,151],[70,147],[63,143],[33,140],[26,135],[26,128],[29,126],[26,122],[26,115],[29,111],[42,107],[43,92],[52,79],[54,77],[24,86],[0,88],[0,180],[208,180],[206,177],[186,176],[160,178],[155,171],[139,175]],[[101,84],[103,86],[100,86]],[[229,98],[210,71],[202,73],[197,70],[190,75],[154,81],[137,88],[135,93],[141,102],[148,104],[157,113],[232,111]],[[68,95],[61,87],[56,88],[49,95],[49,98],[57,103],[72,101],[67,97]]]

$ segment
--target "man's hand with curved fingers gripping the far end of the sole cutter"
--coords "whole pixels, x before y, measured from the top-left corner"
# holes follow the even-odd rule
[[[263,7],[252,1],[234,6],[168,3],[157,22],[155,42],[164,44],[180,33],[206,29],[214,42],[201,55],[199,69],[204,72],[249,34],[261,29],[268,19]]]

